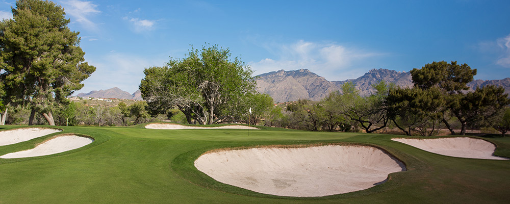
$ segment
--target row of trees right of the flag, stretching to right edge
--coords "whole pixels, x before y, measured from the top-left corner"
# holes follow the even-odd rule
[[[366,133],[396,127],[406,135],[431,136],[439,129],[451,135],[466,130],[493,127],[503,135],[510,130],[510,99],[502,87],[477,87],[468,92],[476,69],[456,62],[433,62],[411,71],[414,86],[397,87],[385,82],[373,85],[375,92],[360,96],[352,83],[342,93],[332,92],[321,101],[299,100],[287,106],[282,118],[269,119],[271,126],[312,131]],[[275,120],[276,122],[274,122]],[[460,129],[455,132],[454,129]]]

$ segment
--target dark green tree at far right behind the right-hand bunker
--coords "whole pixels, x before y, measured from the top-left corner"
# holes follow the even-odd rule
[[[444,94],[446,104],[442,110],[442,121],[452,135],[455,132],[444,117],[448,112],[461,123],[460,135],[465,135],[468,126],[487,125],[496,112],[508,104],[507,94],[501,87],[486,86],[465,93],[469,89],[466,84],[473,81],[476,75],[476,69],[471,69],[467,64],[432,62],[421,69],[411,70],[411,74],[415,87],[423,90],[437,87]]]

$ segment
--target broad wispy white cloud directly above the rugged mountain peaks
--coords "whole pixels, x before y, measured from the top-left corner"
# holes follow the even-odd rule
[[[365,61],[384,55],[337,43],[315,43],[303,40],[290,45],[272,45],[267,49],[275,53],[279,59],[266,58],[259,62],[248,63],[256,75],[280,69],[309,69],[327,80],[354,79],[369,69],[376,68],[365,65],[367,64],[364,63]]]

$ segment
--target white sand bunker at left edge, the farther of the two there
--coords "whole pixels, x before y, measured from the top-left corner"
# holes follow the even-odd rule
[[[57,132],[61,132],[61,130],[40,127],[0,131],[0,146],[29,141]]]

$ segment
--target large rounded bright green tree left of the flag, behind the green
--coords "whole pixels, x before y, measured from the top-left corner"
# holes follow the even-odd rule
[[[192,47],[184,59],[146,68],[142,97],[151,110],[178,108],[190,124],[221,123],[246,113],[238,105],[255,93],[256,82],[249,66],[230,58],[230,50],[217,45]]]

